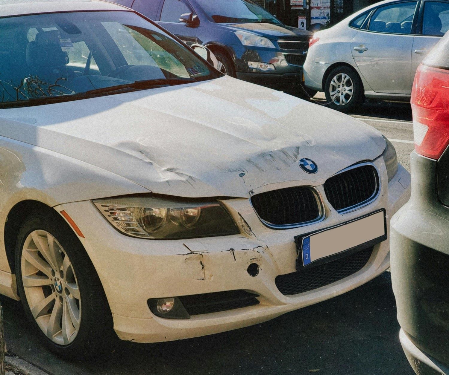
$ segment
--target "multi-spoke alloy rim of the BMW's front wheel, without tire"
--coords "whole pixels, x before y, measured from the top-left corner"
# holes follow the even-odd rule
[[[73,342],[81,322],[81,297],[62,246],[44,230],[31,232],[23,245],[21,270],[26,301],[42,332],[58,345]]]

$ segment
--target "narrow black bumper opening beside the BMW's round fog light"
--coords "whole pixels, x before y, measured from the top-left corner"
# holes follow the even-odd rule
[[[189,315],[211,314],[259,304],[258,294],[244,290],[192,294],[178,297]]]

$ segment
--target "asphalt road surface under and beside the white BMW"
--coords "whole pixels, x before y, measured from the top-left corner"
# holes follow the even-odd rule
[[[369,103],[352,116],[389,138],[409,169],[408,104]],[[412,375],[399,343],[389,272],[328,301],[236,331],[160,344],[116,341],[101,358],[67,362],[30,332],[20,302],[1,297],[9,351],[50,374]]]

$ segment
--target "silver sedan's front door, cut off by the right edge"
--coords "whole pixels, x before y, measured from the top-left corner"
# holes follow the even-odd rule
[[[418,35],[413,40],[411,82],[418,65],[449,30],[449,1],[424,1],[421,8]]]

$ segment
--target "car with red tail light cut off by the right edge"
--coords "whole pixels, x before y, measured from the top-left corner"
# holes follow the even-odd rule
[[[393,218],[400,339],[417,374],[449,374],[449,34],[416,72],[412,196]]]

